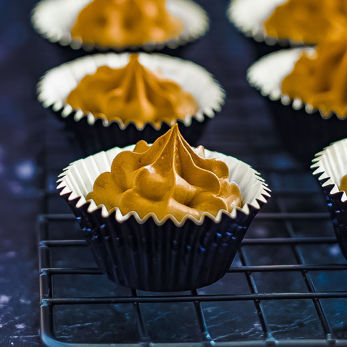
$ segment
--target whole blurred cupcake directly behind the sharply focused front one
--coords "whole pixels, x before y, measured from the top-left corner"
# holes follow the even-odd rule
[[[48,71],[38,95],[75,135],[83,155],[90,155],[141,139],[152,143],[175,122],[195,144],[214,111],[220,111],[225,92],[192,62],[162,54],[108,53]]]

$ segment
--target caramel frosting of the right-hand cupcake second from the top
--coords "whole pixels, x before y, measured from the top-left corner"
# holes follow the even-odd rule
[[[314,56],[307,52],[282,81],[282,94],[300,99],[323,115],[347,117],[347,40],[327,40]]]

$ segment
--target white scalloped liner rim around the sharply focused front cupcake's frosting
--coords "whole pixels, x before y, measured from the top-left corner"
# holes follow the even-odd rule
[[[107,210],[105,205],[96,205],[92,199],[87,201],[85,197],[93,190],[95,179],[102,172],[111,171],[112,161],[117,154],[123,151],[132,151],[134,147],[135,145],[130,145],[124,148],[115,147],[106,152],[100,152],[88,156],[85,159],[80,159],[71,163],[59,175],[61,178],[59,178],[57,181],[57,183],[59,183],[57,189],[62,189],[60,195],[70,194],[68,197],[69,201],[79,198],[78,202],[76,203],[76,208],[81,208],[81,206],[84,204],[89,203],[88,212],[90,213],[101,209],[101,215],[104,218],[107,218],[112,212],[116,211],[115,217],[120,223],[126,221],[131,215],[133,215],[136,221],[141,224],[144,223],[148,218],[152,217],[157,225],[162,225],[168,219],[171,219],[178,227],[182,226],[187,219],[191,219],[195,224],[201,225],[204,222],[205,216],[218,223],[220,222],[223,213],[229,215],[230,218],[235,218],[237,210],[248,215],[249,205],[255,209],[260,209],[258,201],[266,203],[267,199],[264,196],[268,198],[270,197],[269,192],[271,191],[267,187],[267,184],[260,177],[259,172],[255,171],[251,166],[231,156],[205,149],[206,158],[216,158],[224,161],[228,165],[230,171],[229,179],[230,181],[237,182],[244,200],[244,205],[242,208],[236,207],[231,213],[226,210],[219,210],[216,216],[213,216],[209,212],[204,212],[202,213],[200,219],[186,215],[182,221],[179,222],[171,214],[167,215],[163,220],[159,220],[155,213],[151,212],[146,214],[145,217],[141,219],[136,211],[130,211],[129,213],[123,215],[119,208]]]

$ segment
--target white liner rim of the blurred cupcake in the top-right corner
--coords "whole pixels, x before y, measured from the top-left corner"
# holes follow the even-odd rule
[[[273,10],[287,0],[231,0],[227,15],[233,23],[247,37],[253,37],[258,42],[264,41],[268,45],[279,43],[292,46],[302,45],[290,38],[278,40],[266,35],[264,21],[270,17]]]

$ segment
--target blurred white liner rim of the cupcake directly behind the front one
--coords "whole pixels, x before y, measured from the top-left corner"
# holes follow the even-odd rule
[[[99,53],[91,56],[78,58],[71,62],[62,64],[56,68],[49,70],[41,77],[37,84],[37,99],[42,102],[43,107],[52,106],[54,111],[61,111],[63,118],[68,117],[75,112],[74,120],[77,122],[83,117],[87,117],[87,122],[93,125],[96,117],[92,113],[87,115],[81,109],[73,109],[71,105],[66,103],[69,93],[77,86],[79,81],[87,74],[95,73],[99,66],[107,65],[111,68],[119,68],[125,66],[129,61],[130,53]],[[192,118],[202,122],[204,116],[213,118],[215,112],[219,112],[225,102],[225,91],[221,85],[213,78],[213,76],[203,67],[180,58],[174,58],[159,53],[138,53],[139,62],[152,71],[160,70],[164,77],[177,82],[183,90],[194,95],[200,105],[200,110],[195,115],[189,115],[185,119],[178,119],[185,126],[192,123]],[[106,117],[106,116],[105,116]],[[172,121],[172,125],[176,122]],[[142,130],[146,124],[151,124],[155,129],[159,130],[162,123],[157,122],[129,122],[124,124],[121,118],[112,121],[102,119],[105,127],[112,122],[117,122],[121,129],[125,129],[130,123],[133,123],[138,130]]]

